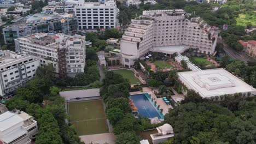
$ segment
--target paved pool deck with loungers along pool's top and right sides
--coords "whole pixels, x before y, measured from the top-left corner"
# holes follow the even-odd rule
[[[168,113],[169,109],[173,109],[173,107],[171,105],[166,105],[165,101],[162,100],[162,98],[156,98],[156,95],[153,93],[152,88],[150,88],[150,87],[143,87],[142,90],[143,90],[143,92],[131,92],[130,95],[142,94],[142,93],[150,94],[151,97],[155,99],[156,105],[160,105],[160,109],[163,109],[163,111],[162,111],[163,115]]]

